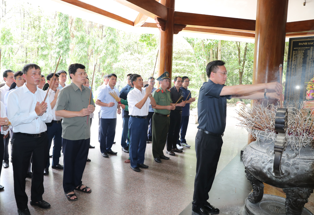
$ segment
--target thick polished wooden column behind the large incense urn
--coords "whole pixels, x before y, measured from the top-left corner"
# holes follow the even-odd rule
[[[284,62],[287,13],[288,0],[257,0],[253,84],[279,81],[279,65]],[[266,100],[261,102],[267,105]],[[268,101],[275,102],[277,100]],[[252,141],[249,137],[248,143]]]

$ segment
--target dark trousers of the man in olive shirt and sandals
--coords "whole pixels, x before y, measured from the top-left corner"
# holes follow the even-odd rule
[[[68,193],[82,184],[86,166],[90,138],[86,140],[67,140],[62,138],[63,148],[63,190]]]

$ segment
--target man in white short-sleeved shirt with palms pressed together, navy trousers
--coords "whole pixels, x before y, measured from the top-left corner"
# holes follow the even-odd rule
[[[146,92],[142,89],[143,79],[139,74],[133,74],[131,82],[134,89],[127,94],[129,105],[129,133],[130,133],[130,160],[131,169],[140,172],[140,168],[148,168],[144,164],[146,149],[149,104],[156,106],[155,99],[151,95],[153,85],[147,87]],[[139,168],[140,167],[140,168]]]

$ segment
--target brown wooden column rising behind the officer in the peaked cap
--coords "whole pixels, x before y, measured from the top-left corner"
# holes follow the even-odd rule
[[[165,6],[167,7],[168,20],[162,24],[164,25],[163,27],[164,31],[161,31],[159,36],[159,67],[156,78],[163,74],[165,71],[169,72],[169,78],[171,78],[172,74],[172,49],[173,49],[175,0],[166,1]],[[157,25],[159,25],[158,22]],[[157,86],[159,86],[158,83]],[[170,87],[171,84],[169,85],[169,88]]]

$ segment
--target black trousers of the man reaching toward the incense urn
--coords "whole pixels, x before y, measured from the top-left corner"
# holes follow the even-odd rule
[[[198,131],[195,137],[196,176],[194,182],[193,208],[208,200],[220,157],[222,138]]]

